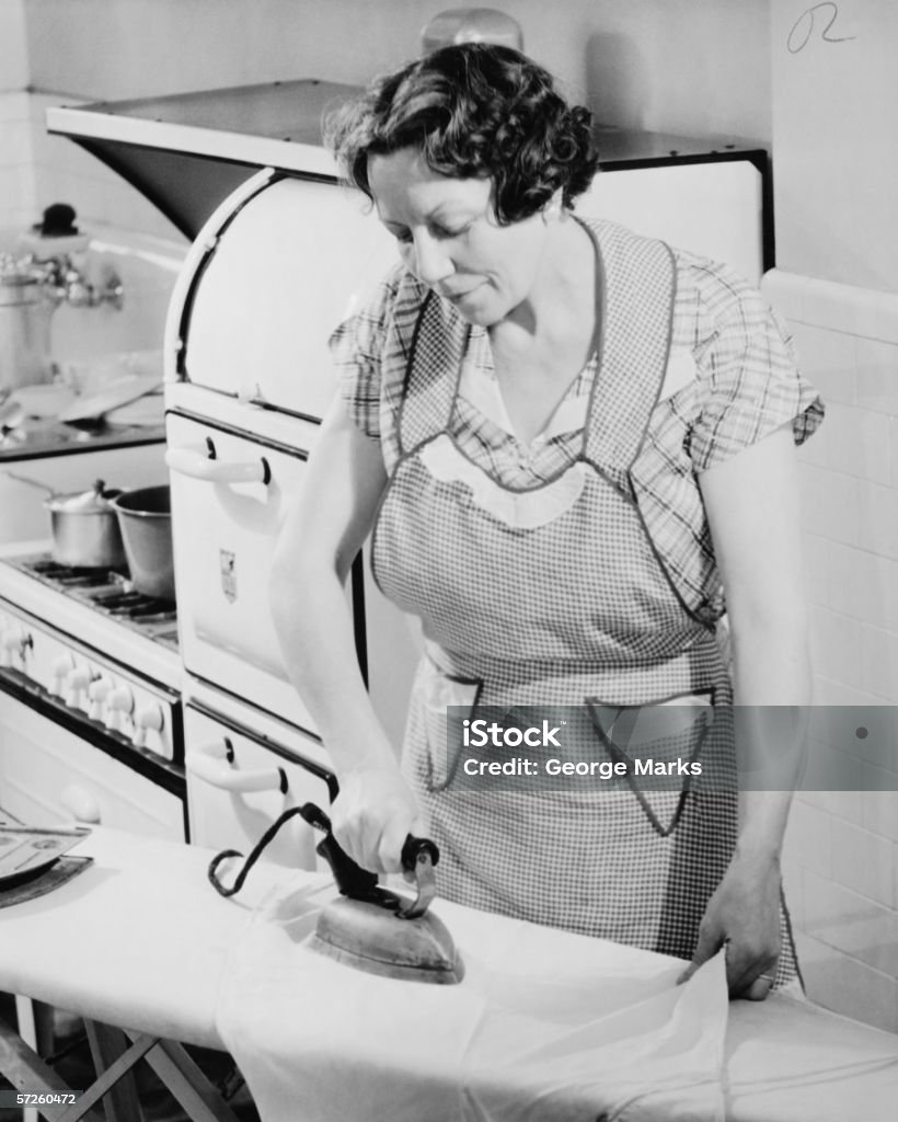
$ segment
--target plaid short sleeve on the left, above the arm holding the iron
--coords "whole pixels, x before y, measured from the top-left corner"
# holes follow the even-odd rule
[[[372,440],[380,438],[383,367],[402,275],[401,267],[390,270],[371,297],[328,340],[337,392],[353,424]]]

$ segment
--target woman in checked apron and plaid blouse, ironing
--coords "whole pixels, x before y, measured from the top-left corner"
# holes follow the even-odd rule
[[[788,792],[737,808],[703,780],[675,806],[629,780],[462,788],[442,718],[575,706],[596,755],[619,756],[614,716],[734,700],[756,718],[740,753],[769,747],[756,707],[808,701],[793,447],[816,394],[729,269],[572,213],[595,171],[590,117],[525,56],[438,50],[331,137],[400,258],[332,341],[342,393],[272,585],[339,772],[339,840],[396,872],[427,830],[444,895],[691,958],[686,974],[725,944],[731,993],[763,999],[796,975]],[[401,772],[342,590],[372,527],[376,578],[426,637]],[[725,720],[687,741],[705,774],[734,766]]]

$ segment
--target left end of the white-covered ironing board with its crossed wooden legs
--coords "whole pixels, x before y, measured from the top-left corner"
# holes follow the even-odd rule
[[[84,1019],[96,1083],[54,1122],[140,1118],[128,1075],[140,1059],[194,1122],[237,1122],[182,1043],[224,1050],[215,1029],[217,980],[246,923],[260,868],[239,904],[219,898],[205,870],[211,854],[99,828],[75,850],[93,858],[47,895],[0,912],[0,990]],[[281,871],[283,875],[283,871]],[[68,1091],[9,1026],[0,1022],[0,1074],[36,1093]],[[38,1106],[39,1109],[39,1106]]]

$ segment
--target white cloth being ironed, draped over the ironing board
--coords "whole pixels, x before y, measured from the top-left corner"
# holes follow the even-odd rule
[[[230,956],[219,1030],[265,1122],[723,1120],[721,956],[677,986],[677,959],[441,901],[464,981],[402,982],[308,949],[333,894],[276,891]]]

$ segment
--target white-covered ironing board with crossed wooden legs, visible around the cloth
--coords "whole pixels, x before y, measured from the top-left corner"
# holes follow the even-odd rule
[[[53,893],[3,910],[0,990],[114,1027],[127,1037],[128,1048],[101,1075],[90,1098],[82,1097],[68,1113],[54,1107],[46,1116],[57,1122],[96,1119],[98,1095],[144,1056],[195,1122],[234,1122],[233,1112],[180,1045],[226,1050],[219,1028],[225,972],[232,981],[240,957],[235,950],[248,946],[248,936],[258,927],[257,909],[287,881],[302,884],[307,876],[311,885],[321,885],[322,877],[259,864],[241,895],[224,900],[207,883],[207,849],[99,827],[72,853],[91,856],[93,863]],[[462,913],[446,909],[445,916],[461,934],[464,925],[456,921]],[[466,925],[480,923],[493,938],[502,922],[485,913],[469,912],[465,918]],[[765,1073],[777,1063],[781,1068],[786,1049],[807,1051],[816,1041],[850,1059],[853,1075],[849,1083],[836,1086],[831,1080],[815,1088],[833,1110],[813,1116],[891,1120],[898,1097],[898,1037],[809,1003],[771,997],[730,1005],[729,1122],[806,1122],[807,1087],[794,1080],[777,1085],[766,1080]],[[382,1041],[372,1046],[382,1047]],[[11,1030],[0,1036],[0,1073],[24,1089],[63,1089],[58,1077]],[[840,1115],[840,1101],[844,1104],[849,1096],[854,1109]],[[888,1113],[878,1106],[883,1103]]]

